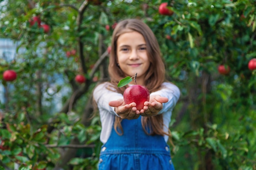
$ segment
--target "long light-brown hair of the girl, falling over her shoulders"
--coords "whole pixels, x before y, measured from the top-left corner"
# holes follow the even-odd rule
[[[145,86],[148,88],[150,93],[152,93],[159,90],[161,88],[161,84],[165,81],[165,67],[160,53],[159,44],[153,31],[141,20],[126,19],[119,22],[115,27],[112,35],[108,66],[110,82],[119,93],[124,94],[124,90],[127,88],[127,86],[117,88],[117,84],[120,79],[124,78],[124,72],[119,68],[117,64],[117,40],[121,34],[131,31],[137,31],[143,35],[145,39],[150,66],[146,72],[144,80]],[[168,133],[163,130],[164,123],[162,114],[157,116],[143,117],[141,121],[143,129],[148,135],[168,135]],[[119,135],[123,133],[120,117],[115,117],[114,128]]]

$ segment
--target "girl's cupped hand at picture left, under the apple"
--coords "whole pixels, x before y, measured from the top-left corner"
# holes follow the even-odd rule
[[[122,119],[137,119],[139,117],[139,110],[135,107],[135,102],[124,104],[124,99],[119,99],[110,101],[108,104],[109,106],[115,107],[115,112]]]

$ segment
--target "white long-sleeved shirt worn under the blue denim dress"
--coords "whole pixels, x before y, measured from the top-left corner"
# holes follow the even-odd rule
[[[97,106],[99,108],[102,126],[100,140],[103,144],[105,144],[108,141],[115,120],[115,116],[117,115],[114,110],[115,108],[109,106],[108,103],[113,100],[124,98],[122,94],[115,92],[114,89],[113,91],[110,91],[108,89],[110,87],[109,85],[109,82],[99,84],[93,92],[94,100],[97,102]],[[173,108],[176,105],[178,99],[180,98],[180,90],[174,84],[164,82],[162,84],[162,88],[159,91],[150,93],[150,96],[151,95],[160,95],[162,97],[168,98],[168,102],[163,103],[163,109],[160,110],[158,113],[163,114],[163,121],[165,125],[164,130],[168,132],[168,127],[171,122],[171,114]],[[165,135],[164,139],[167,142],[168,136]]]

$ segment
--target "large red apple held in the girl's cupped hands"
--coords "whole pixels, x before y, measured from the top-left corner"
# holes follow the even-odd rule
[[[149,101],[149,94],[145,86],[132,85],[124,91],[124,103],[130,104],[135,102],[137,110],[141,110],[144,107],[144,102]]]

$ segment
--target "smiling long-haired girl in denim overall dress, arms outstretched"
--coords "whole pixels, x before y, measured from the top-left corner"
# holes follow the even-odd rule
[[[109,58],[110,82],[93,92],[101,118],[103,143],[99,170],[174,170],[167,145],[171,113],[180,90],[165,81],[164,62],[152,30],[142,21],[119,22],[112,35]],[[124,104],[118,82],[137,73],[137,84],[150,91],[150,101],[137,110]]]

